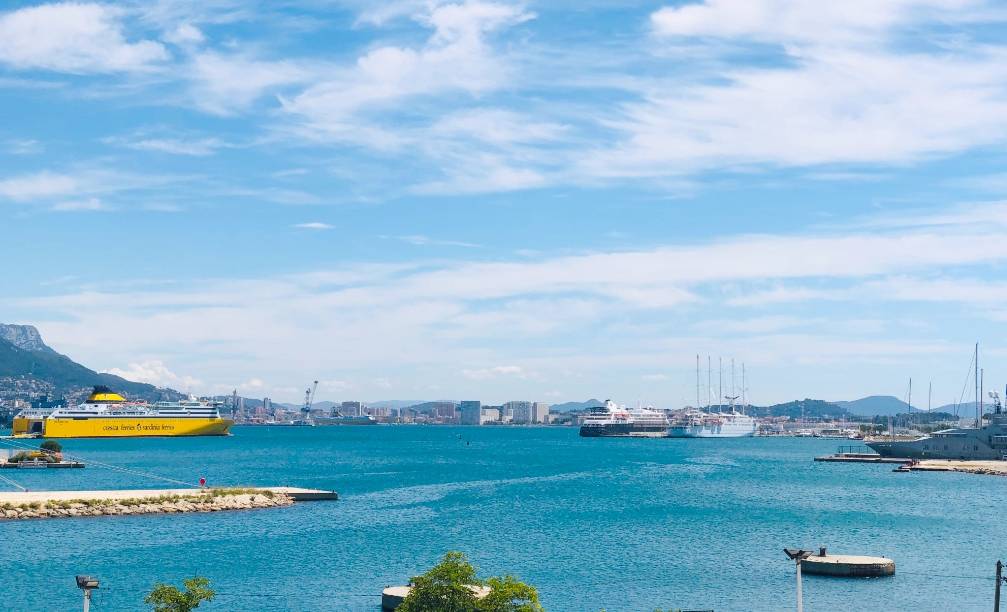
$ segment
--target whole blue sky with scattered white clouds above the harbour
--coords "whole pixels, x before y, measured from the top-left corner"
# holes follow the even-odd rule
[[[1000,2],[6,2],[0,114],[0,321],[132,379],[1007,382]]]

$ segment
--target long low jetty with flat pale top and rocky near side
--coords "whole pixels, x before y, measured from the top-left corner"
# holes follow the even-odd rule
[[[0,519],[219,512],[335,499],[332,491],[291,487],[0,493]]]

